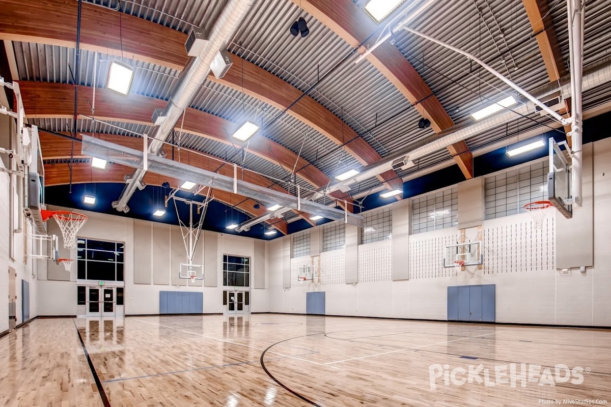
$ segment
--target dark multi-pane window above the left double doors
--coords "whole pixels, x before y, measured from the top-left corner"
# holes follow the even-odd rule
[[[123,281],[125,244],[78,238],[77,278]]]

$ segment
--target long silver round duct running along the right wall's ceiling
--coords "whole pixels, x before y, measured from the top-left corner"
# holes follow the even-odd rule
[[[583,76],[583,91],[593,89],[599,85],[605,84],[611,81],[611,57],[607,57],[598,62],[591,63],[584,69]],[[541,87],[536,88],[531,92],[531,95],[535,98],[543,99],[547,95],[551,95],[554,92],[560,91],[563,98],[571,97],[571,77],[565,76],[560,79],[560,88],[558,88],[558,82],[550,82]],[[502,124],[508,123],[511,120],[515,120],[517,115],[529,115],[535,112],[535,104],[528,101],[525,98],[516,97],[521,106],[514,108],[513,110],[505,110],[502,113],[497,113],[484,120],[477,121],[472,124],[459,124],[453,126],[451,129],[439,132],[437,134],[425,137],[417,143],[412,143],[403,149],[393,153],[390,156],[385,157],[377,164],[364,167],[359,175],[353,178],[346,179],[346,181],[338,182],[337,184],[331,185],[328,189],[320,189],[318,193],[331,193],[340,189],[345,189],[349,185],[355,184],[356,182],[365,181],[365,179],[373,178],[376,175],[388,171],[392,168],[394,160],[407,156],[409,160],[415,160],[420,157],[426,156],[427,154],[434,153],[440,149],[447,148],[457,142],[469,139],[474,135],[481,134],[490,129],[496,128]]]

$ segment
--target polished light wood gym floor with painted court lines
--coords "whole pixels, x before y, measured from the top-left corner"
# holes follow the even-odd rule
[[[34,320],[0,339],[0,405],[103,406],[78,333],[114,407],[611,402],[609,330],[256,314]]]

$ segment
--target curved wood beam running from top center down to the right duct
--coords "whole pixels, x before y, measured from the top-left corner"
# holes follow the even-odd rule
[[[291,1],[298,4],[316,20],[321,21],[353,47],[361,45],[364,41],[366,41],[365,47],[371,46],[376,40],[375,36],[369,40],[368,38],[378,30],[378,24],[352,0]],[[360,52],[365,52],[365,50],[363,46],[360,47]],[[367,60],[414,104],[422,117],[431,121],[431,128],[435,132],[438,133],[454,126],[452,118],[445,111],[437,96],[396,46],[385,41],[367,56]],[[456,145],[452,150],[448,150],[452,154],[452,151],[462,151],[463,148],[463,145]],[[464,176],[467,179],[473,178],[473,172],[467,172],[468,168],[473,168],[472,157],[470,162],[466,162],[469,160],[469,154],[452,154],[452,156]]]

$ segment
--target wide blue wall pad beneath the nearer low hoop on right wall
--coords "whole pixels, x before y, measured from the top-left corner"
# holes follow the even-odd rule
[[[496,285],[448,286],[448,321],[496,321]]]

